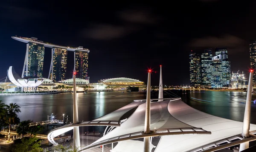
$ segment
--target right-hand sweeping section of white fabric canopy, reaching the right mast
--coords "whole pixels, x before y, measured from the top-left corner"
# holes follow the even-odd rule
[[[177,120],[194,127],[203,128],[212,132],[212,134],[162,136],[155,152],[187,152],[205,144],[241,134],[242,132],[242,122],[203,113],[181,100],[170,102],[168,110]],[[250,124],[250,130],[256,130],[256,125]]]

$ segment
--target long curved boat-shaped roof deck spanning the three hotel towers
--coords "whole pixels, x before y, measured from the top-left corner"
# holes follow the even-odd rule
[[[31,39],[31,38],[27,38],[27,37],[17,37],[17,36],[12,37],[12,38],[17,40],[17,41],[20,41],[20,42],[25,42],[25,43],[33,42],[33,43],[36,43],[36,44],[41,44],[41,45],[44,45],[44,47],[47,47],[47,48],[62,48],[62,49],[66,49],[67,51],[86,51],[88,53],[90,52],[90,50],[87,49],[87,48],[82,48],[82,47],[73,48],[73,47],[55,45],[55,44],[52,44],[52,43],[39,41],[39,40],[37,40],[37,38]]]

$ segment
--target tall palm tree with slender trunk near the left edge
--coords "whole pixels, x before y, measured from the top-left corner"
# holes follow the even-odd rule
[[[10,141],[10,134],[11,134],[11,123],[15,123],[15,119],[17,118],[16,113],[20,113],[20,106],[18,106],[16,103],[10,103],[9,105],[6,105],[6,112],[7,112],[7,118],[8,118],[8,124],[9,124],[9,135],[8,140]]]

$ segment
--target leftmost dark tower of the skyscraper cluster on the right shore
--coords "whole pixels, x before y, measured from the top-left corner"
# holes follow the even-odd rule
[[[191,87],[196,87],[201,84],[200,55],[192,51],[189,54],[189,77]]]

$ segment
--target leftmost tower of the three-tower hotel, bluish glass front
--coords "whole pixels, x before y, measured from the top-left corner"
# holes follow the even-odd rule
[[[28,59],[24,65],[23,76],[31,78],[43,77],[44,45],[29,42],[27,44]]]

